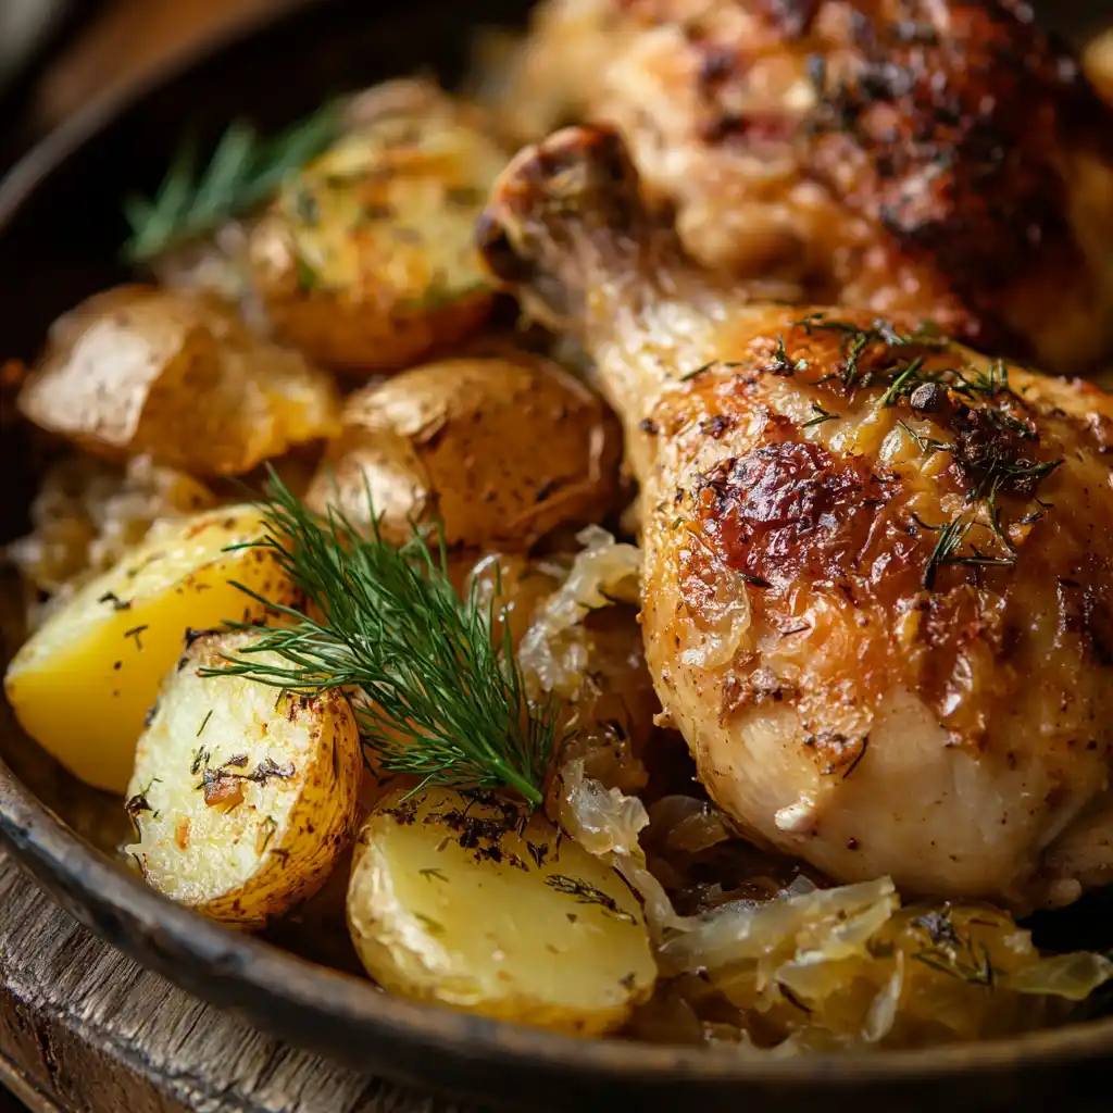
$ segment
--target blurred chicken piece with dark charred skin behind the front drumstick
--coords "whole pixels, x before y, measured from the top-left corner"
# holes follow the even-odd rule
[[[615,124],[707,266],[1050,371],[1113,347],[1113,107],[1024,3],[550,0],[504,100]]]

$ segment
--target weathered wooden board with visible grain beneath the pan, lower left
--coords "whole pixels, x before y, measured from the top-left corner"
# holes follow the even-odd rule
[[[0,853],[0,1081],[13,1074],[36,1113],[481,1113],[190,997],[71,920]]]

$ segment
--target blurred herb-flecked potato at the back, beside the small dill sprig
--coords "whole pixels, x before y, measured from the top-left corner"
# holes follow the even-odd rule
[[[394,371],[473,332],[493,287],[473,242],[506,161],[435,85],[363,95],[356,126],[295,176],[250,232],[275,334],[336,371]]]

